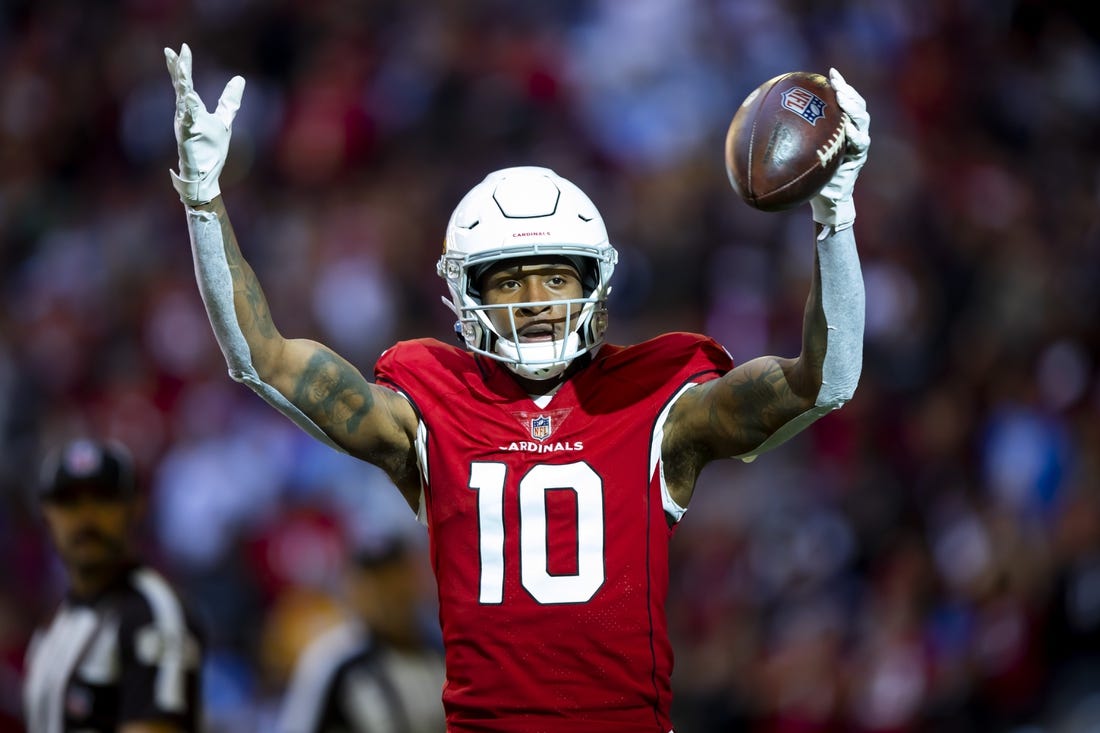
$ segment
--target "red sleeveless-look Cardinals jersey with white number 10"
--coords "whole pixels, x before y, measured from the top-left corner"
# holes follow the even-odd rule
[[[715,341],[604,344],[544,407],[496,361],[405,341],[375,369],[421,419],[453,733],[672,730],[664,416]]]

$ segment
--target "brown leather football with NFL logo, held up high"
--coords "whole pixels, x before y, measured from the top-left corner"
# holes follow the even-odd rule
[[[790,72],[765,81],[729,123],[729,184],[761,211],[809,201],[840,164],[844,124],[836,92],[821,74]]]

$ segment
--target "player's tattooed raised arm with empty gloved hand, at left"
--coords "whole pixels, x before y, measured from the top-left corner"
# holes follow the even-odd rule
[[[178,55],[165,48],[165,59],[176,89],[179,173],[173,183],[186,206],[199,291],[230,375],[314,437],[385,470],[416,507],[418,420],[411,405],[328,347],[279,333],[241,255],[218,176],[244,79],[229,81],[211,113],[195,92],[187,45]]]

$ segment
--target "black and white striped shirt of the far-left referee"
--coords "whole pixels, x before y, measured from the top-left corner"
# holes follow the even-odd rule
[[[98,733],[127,722],[201,725],[202,639],[179,595],[136,567],[98,598],[67,598],[31,639],[28,733]]]

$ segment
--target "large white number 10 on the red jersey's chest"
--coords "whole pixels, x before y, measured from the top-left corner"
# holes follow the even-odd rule
[[[504,601],[504,463],[472,463],[477,492],[482,603]],[[550,575],[547,558],[547,496],[571,489],[576,495],[576,573]],[[604,583],[604,484],[587,463],[536,466],[519,481],[519,582],[539,603],[584,603]]]

